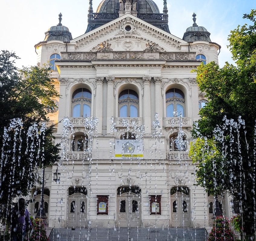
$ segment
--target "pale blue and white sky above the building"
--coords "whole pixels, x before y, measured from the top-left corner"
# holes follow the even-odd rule
[[[37,55],[34,45],[43,41],[45,32],[58,23],[62,13],[62,24],[69,28],[72,37],[85,33],[87,27],[88,0],[2,0],[0,10],[0,50],[14,51],[21,58],[16,66],[36,65]],[[93,0],[96,11],[101,0]],[[159,10],[163,10],[163,0],[155,0]],[[225,61],[233,63],[226,47],[230,30],[243,25],[244,13],[256,8],[255,0],[167,0],[169,29],[171,34],[182,38],[187,27],[192,26],[192,14],[197,14],[197,24],[210,33],[212,42],[222,46],[219,65]]]

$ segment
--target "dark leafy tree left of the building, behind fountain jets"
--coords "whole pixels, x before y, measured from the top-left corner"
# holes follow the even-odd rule
[[[58,145],[53,144],[53,126],[42,128],[42,121],[48,121],[47,113],[56,108],[52,98],[58,96],[50,79],[50,68],[18,70],[14,65],[17,58],[14,53],[0,52],[2,221],[8,216],[11,200],[20,195],[27,196],[38,181],[38,168],[59,160]],[[19,124],[20,128],[10,127],[10,122]],[[28,135],[31,130],[32,135]]]

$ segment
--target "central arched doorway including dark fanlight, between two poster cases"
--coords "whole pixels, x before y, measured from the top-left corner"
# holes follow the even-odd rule
[[[138,186],[117,188],[117,226],[141,227],[141,189]]]

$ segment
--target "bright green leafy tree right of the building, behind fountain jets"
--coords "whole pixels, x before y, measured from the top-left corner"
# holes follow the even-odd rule
[[[197,83],[208,104],[192,135],[197,183],[211,194],[228,191],[239,202],[244,232],[255,235],[256,10],[244,14],[253,24],[229,35],[237,66],[215,62],[197,68]],[[214,154],[214,155],[213,155]]]

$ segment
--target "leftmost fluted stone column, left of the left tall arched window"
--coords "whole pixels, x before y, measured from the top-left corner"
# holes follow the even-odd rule
[[[68,83],[68,78],[58,78],[59,80],[59,114],[58,114],[58,121],[62,121],[64,117],[72,116],[72,113],[66,113],[67,108],[66,106],[68,103],[66,103],[66,85]],[[71,110],[72,112],[72,110]],[[58,133],[61,133],[63,129],[63,125],[58,125]]]

